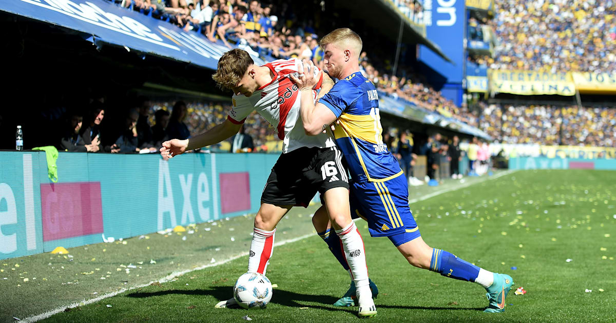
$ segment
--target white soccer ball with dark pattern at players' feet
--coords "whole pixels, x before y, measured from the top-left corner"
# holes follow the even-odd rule
[[[259,273],[245,273],[233,287],[233,298],[243,308],[265,308],[272,299],[272,283]]]

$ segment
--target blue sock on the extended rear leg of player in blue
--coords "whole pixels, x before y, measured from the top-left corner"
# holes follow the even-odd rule
[[[474,282],[479,276],[479,267],[468,261],[461,260],[445,250],[432,249],[430,270],[440,273],[442,276],[460,279],[461,281]]]

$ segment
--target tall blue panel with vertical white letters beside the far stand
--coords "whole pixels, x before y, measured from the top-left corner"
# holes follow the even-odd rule
[[[444,76],[445,83],[461,84],[464,64],[464,0],[424,1],[427,38],[437,44],[453,63],[445,61],[426,46],[419,46],[419,60]]]

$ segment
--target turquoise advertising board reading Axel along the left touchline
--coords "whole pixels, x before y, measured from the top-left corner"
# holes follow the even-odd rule
[[[277,154],[0,152],[0,259],[255,213]]]

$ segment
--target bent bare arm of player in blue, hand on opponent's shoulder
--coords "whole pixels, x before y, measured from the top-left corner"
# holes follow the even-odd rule
[[[301,78],[296,78],[291,75],[291,81],[298,85],[301,90],[301,117],[304,123],[304,132],[307,135],[318,135],[325,130],[338,117],[323,103],[314,103],[312,98],[312,88],[317,84],[318,78],[314,73],[315,66],[312,61],[309,63],[309,68],[304,71],[304,63],[300,63],[298,72]],[[321,72],[322,73],[322,72]],[[323,74],[323,82],[325,82],[325,73]],[[317,73],[318,75],[318,73]],[[329,78],[328,78],[329,79]],[[331,81],[331,79],[330,79]],[[332,81],[333,83],[333,81]],[[331,89],[332,86],[330,86]],[[329,90],[329,89],[328,89]]]

